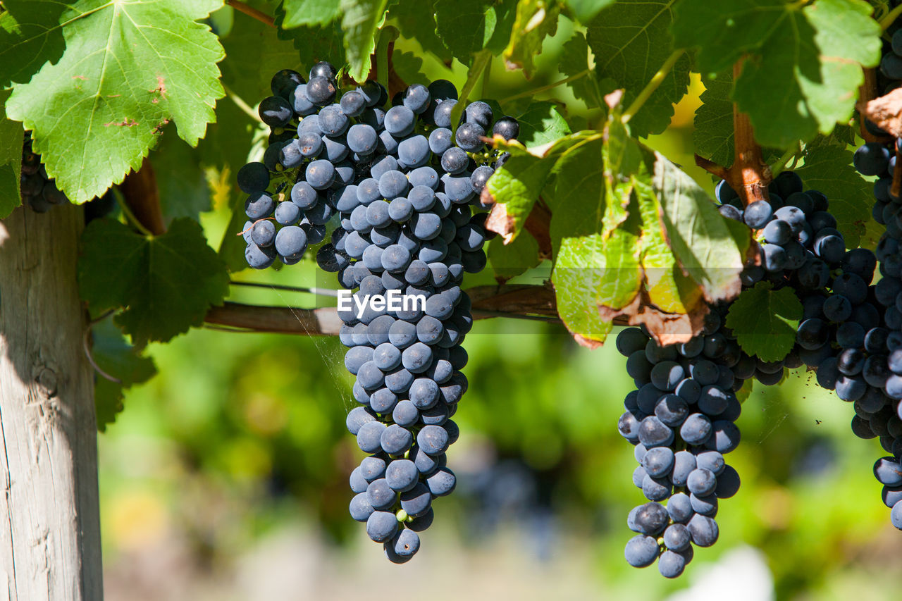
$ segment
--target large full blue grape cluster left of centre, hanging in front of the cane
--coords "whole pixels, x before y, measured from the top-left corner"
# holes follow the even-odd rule
[[[506,160],[485,137],[515,138],[520,125],[473,102],[453,131],[457,90],[446,80],[410,86],[387,110],[373,81],[339,97],[325,62],[306,83],[281,71],[272,92],[260,105],[271,143],[238,172],[250,195],[245,256],[257,268],[296,263],[336,223],[316,257],[354,291],[338,311],[359,403],[346,425],[368,457],[350,477],[350,513],[402,563],[419,550],[433,500],[456,485],[446,449],[459,434],[450,418],[467,388],[461,343],[473,321],[460,284],[486,264],[485,214],[471,206]],[[400,307],[367,302],[391,293]]]

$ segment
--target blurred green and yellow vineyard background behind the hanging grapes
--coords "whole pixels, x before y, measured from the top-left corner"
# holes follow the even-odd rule
[[[530,81],[496,60],[483,96],[563,79],[557,56],[573,31],[562,18]],[[400,52],[422,58],[429,79],[465,79],[462,65],[448,69],[405,40],[396,45],[401,75],[409,58]],[[647,142],[712,190],[692,159],[702,90],[694,79],[670,129]],[[599,118],[566,88],[537,97],[563,103],[575,129]],[[234,235],[226,232],[234,191],[214,191],[202,222],[216,246]],[[547,276],[542,265],[515,282]],[[234,278],[327,282],[306,260]],[[491,282],[487,271],[465,285]],[[232,299],[315,301],[239,287]],[[721,504],[720,541],[667,581],[622,557],[626,515],[644,499],[631,483],[632,447],[616,429],[632,383],[613,345],[588,351],[560,326],[492,319],[476,322],[465,347],[470,388],[449,453],[458,487],[437,502],[434,526],[404,566],[385,560],[347,514],[347,475],[360,452],[345,430],[351,380],[337,339],[201,329],[150,347],[160,374],[126,393],[124,413],[99,437],[107,598],[897,598],[902,533],[871,475],[883,453],[851,435],[851,405],[806,374],[756,387],[745,402],[743,442],[729,458],[742,487]]]

